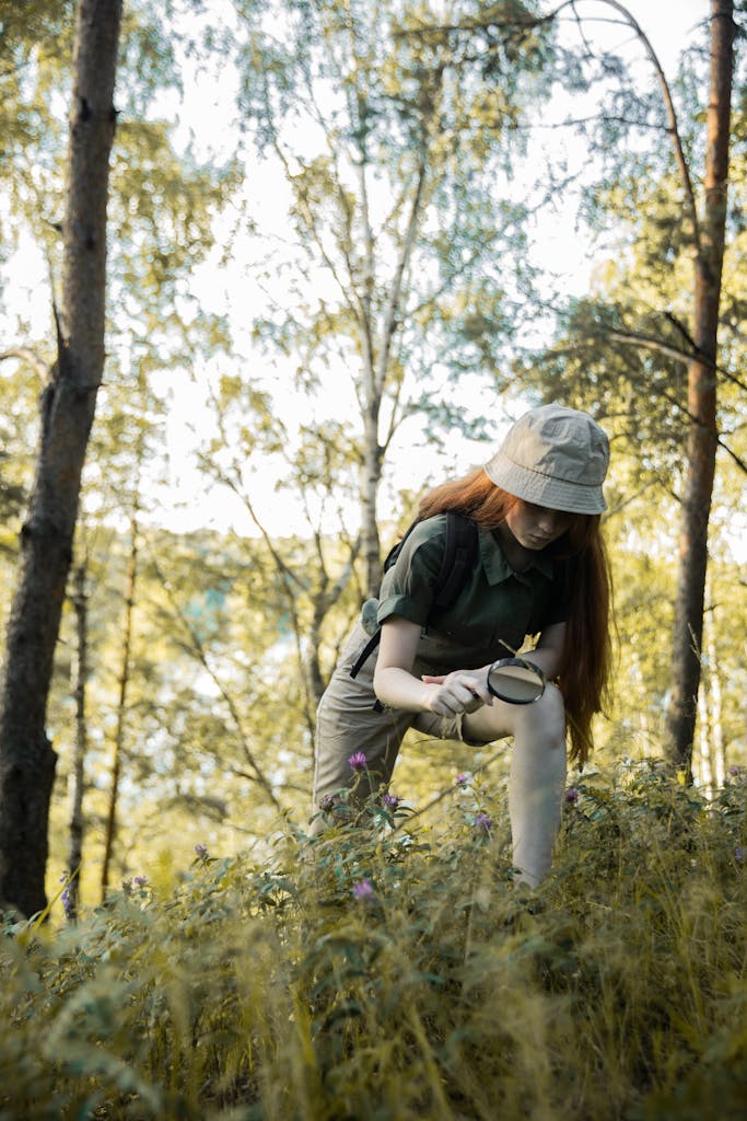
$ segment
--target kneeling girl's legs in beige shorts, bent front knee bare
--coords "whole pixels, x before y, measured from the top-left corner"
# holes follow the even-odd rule
[[[314,772],[314,813],[340,789],[349,789],[358,778],[348,760],[362,751],[366,775],[358,778],[356,796],[389,784],[400,744],[409,728],[440,740],[461,740],[482,745],[511,735],[514,750],[508,779],[508,813],[513,860],[517,878],[534,887],[550,868],[552,847],[560,823],[560,805],[566,782],[566,723],[560,692],[549,685],[540,701],[511,705],[496,701],[480,710],[485,735],[470,736],[470,717],[437,716],[382,708],[373,691],[374,651],[355,678],[351,667],[367,639],[360,626],[351,636],[317,712]],[[436,667],[415,665],[414,673],[438,673]],[[467,725],[463,728],[463,721]],[[487,722],[488,726],[485,726]],[[325,827],[316,816],[311,833]]]

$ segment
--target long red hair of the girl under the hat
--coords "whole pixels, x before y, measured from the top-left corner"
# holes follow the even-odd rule
[[[519,502],[477,467],[429,491],[418,507],[418,520],[455,510],[485,529],[496,529]],[[555,549],[557,556],[572,556],[576,564],[558,685],[570,731],[570,758],[582,766],[594,745],[591,721],[608,700],[611,666],[611,574],[599,515],[576,515]]]

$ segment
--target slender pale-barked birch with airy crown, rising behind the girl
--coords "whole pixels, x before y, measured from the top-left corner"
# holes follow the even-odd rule
[[[536,73],[523,84],[539,44],[531,33],[521,45],[497,36],[480,73],[466,66],[475,41],[451,49],[441,31],[410,34],[432,19],[422,6],[239,0],[236,10],[246,127],[290,196],[287,291],[255,321],[255,337],[295,358],[300,390],[338,379],[340,407],[352,397],[374,595],[394,434],[412,416],[421,429],[464,425],[445,371],[479,370],[489,392],[486,370],[512,331],[523,207],[495,184],[519,106],[541,90]]]

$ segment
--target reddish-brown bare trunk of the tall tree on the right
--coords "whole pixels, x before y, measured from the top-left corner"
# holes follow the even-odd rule
[[[693,340],[698,358],[688,367],[690,420],[672,643],[672,700],[667,712],[667,756],[670,762],[688,777],[691,777],[698,714],[708,521],[718,446],[715,367],[729,166],[735,37],[732,9],[732,0],[711,0],[706,204],[694,262]]]

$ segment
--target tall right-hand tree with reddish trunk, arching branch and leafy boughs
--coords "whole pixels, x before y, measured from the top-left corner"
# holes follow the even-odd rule
[[[639,231],[639,242],[646,234],[652,241],[648,252],[644,250],[639,274],[635,278],[629,274],[626,276],[625,303],[613,306],[597,299],[581,306],[573,305],[567,319],[571,327],[571,346],[567,350],[563,343],[554,352],[559,361],[552,363],[549,374],[545,371],[538,380],[547,395],[557,397],[562,391],[570,391],[577,402],[585,401],[599,414],[607,410],[615,415],[616,427],[626,428],[638,444],[643,425],[647,430],[659,429],[657,435],[667,445],[667,452],[676,450],[679,462],[672,464],[670,455],[670,466],[673,465],[681,474],[683,485],[666,753],[675,769],[689,775],[698,715],[709,518],[719,447],[731,455],[743,470],[747,470],[730,447],[730,442],[722,438],[717,410],[720,378],[729,379],[743,391],[746,388],[744,379],[730,374],[719,363],[719,306],[735,64],[734,2],[710,0],[710,75],[702,145],[706,160],[702,197],[698,194],[694,172],[693,152],[698,150],[698,145],[687,136],[678,120],[672,87],[645,30],[618,0],[598,0],[597,11],[592,10],[590,18],[598,17],[598,12],[604,13],[603,20],[633,31],[653,72],[652,87],[634,89],[633,78],[618,57],[592,49],[583,35],[586,13],[577,11],[573,0],[563,0],[542,21],[557,21],[569,13],[578,20],[583,53],[580,58],[577,57],[576,65],[581,68],[597,65],[592,78],[582,83],[587,94],[594,91],[594,81],[609,83],[611,75],[613,104],[610,108],[603,98],[598,99],[598,138],[601,143],[597,142],[594,149],[594,155],[610,174],[604,185],[590,194],[596,194],[597,202],[599,197],[605,200],[618,224],[622,212],[629,210]],[[499,27],[504,17],[491,11],[483,18]],[[536,26],[536,20],[527,20],[525,15],[516,17],[508,13],[507,18],[510,21],[517,18],[520,25]],[[566,72],[566,81],[569,73],[572,71]],[[560,73],[559,80],[563,80]],[[692,123],[694,131],[694,121]],[[650,146],[641,146],[637,151],[628,149],[625,139],[638,127],[661,129],[665,142],[655,151]],[[586,135],[588,121],[583,122],[583,129]],[[662,156],[667,161],[666,168],[661,163]],[[626,168],[623,160],[627,161]],[[669,196],[666,214],[663,206],[666,191],[661,189],[659,196],[653,194],[652,197],[648,178],[652,172],[659,173],[660,179],[670,189],[670,173],[676,176],[678,197],[673,200],[673,192]],[[620,184],[625,178],[629,180],[629,197],[623,198],[625,188]],[[651,215],[645,214],[644,200],[653,204]],[[599,213],[597,206],[597,217]],[[646,222],[647,226],[644,225]],[[666,282],[661,277],[657,294],[662,304],[652,309],[650,302],[654,269],[661,268],[661,259],[665,254],[664,271],[674,289],[679,281],[680,293],[675,298],[680,305],[682,277],[673,274],[672,262],[685,253],[693,263],[691,281],[685,281],[689,307],[683,322],[671,313],[669,299],[663,297]],[[635,282],[642,289],[637,303]],[[631,326],[634,318],[638,319],[637,330]],[[573,342],[579,343],[582,351],[578,367],[572,361]],[[681,392],[678,385],[678,368],[681,370],[682,367],[687,369],[685,392]],[[646,410],[648,416],[643,420],[639,407],[642,393],[651,393],[655,401],[655,407],[652,405]]]

